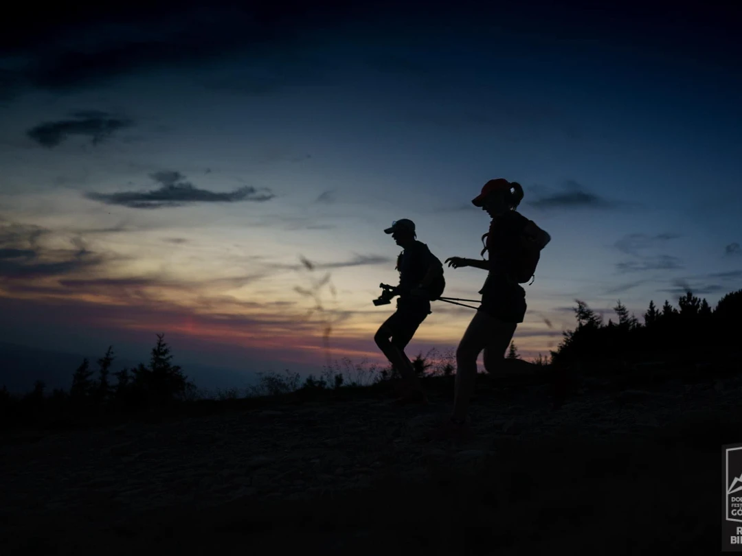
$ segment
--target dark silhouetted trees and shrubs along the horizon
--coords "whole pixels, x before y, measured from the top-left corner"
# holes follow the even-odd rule
[[[715,308],[706,299],[687,291],[674,307],[665,300],[661,308],[649,302],[643,322],[629,314],[620,300],[614,307],[617,322],[593,311],[587,303],[576,299],[574,308],[577,327],[564,331],[557,350],[550,351],[551,360],[539,355],[536,365],[568,367],[574,363],[593,363],[599,369],[605,361],[646,363],[662,361],[677,368],[711,360],[728,360],[729,355],[740,355],[738,339],[742,332],[742,290],[726,294]],[[736,351],[735,351],[736,350]],[[432,357],[418,354],[412,361],[418,377],[450,377],[456,372],[455,357]],[[508,359],[519,359],[514,342],[510,343]],[[131,411],[161,411],[174,404],[196,400],[199,391],[183,374],[180,365],[172,363],[171,349],[164,334],[157,334],[157,345],[151,349],[147,365],[139,363],[132,368],[112,372],[115,356],[109,346],[103,357],[91,368],[84,359],[73,372],[69,391],[55,388],[46,393],[45,383],[36,381],[33,391],[22,397],[11,395],[5,386],[0,388],[0,419],[2,426],[13,423],[32,424],[36,417],[60,415],[88,418],[91,415],[123,414]],[[347,366],[352,366],[345,360]],[[356,369],[360,370],[360,367]],[[276,373],[259,373],[259,383],[248,396],[278,395],[292,391],[316,391],[370,386],[398,378],[391,367],[363,371],[360,380],[347,380],[339,368],[327,368],[321,377],[306,377],[303,382],[298,374],[281,376]],[[225,399],[238,397],[233,388]]]

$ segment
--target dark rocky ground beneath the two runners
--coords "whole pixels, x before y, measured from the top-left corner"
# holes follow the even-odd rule
[[[4,555],[711,554],[721,444],[742,441],[742,381],[613,388],[480,380],[467,443],[375,391],[226,404],[87,430],[7,434]],[[320,552],[318,552],[320,553]]]

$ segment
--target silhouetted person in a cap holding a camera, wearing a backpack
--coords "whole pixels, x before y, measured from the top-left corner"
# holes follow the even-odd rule
[[[392,222],[391,228],[384,230],[384,234],[392,234],[396,244],[404,251],[397,257],[399,285],[389,294],[389,299],[399,296],[397,310],[379,327],[374,340],[387,360],[401,374],[401,397],[398,401],[427,403],[427,397],[404,348],[413,339],[421,322],[431,313],[430,300],[440,295],[433,290],[436,282],[440,284],[442,280],[443,265],[430,253],[427,245],[416,239],[412,220],[396,220]]]

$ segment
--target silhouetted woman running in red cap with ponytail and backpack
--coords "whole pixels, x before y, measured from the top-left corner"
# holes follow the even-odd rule
[[[469,401],[476,379],[476,360],[484,350],[485,368],[498,374],[505,360],[516,327],[523,322],[526,302],[520,283],[533,275],[539,252],[551,237],[534,222],[515,209],[523,199],[523,188],[518,182],[490,179],[472,203],[482,207],[492,217],[490,230],[482,236],[485,260],[450,257],[450,267],[473,266],[489,271],[485,285],[479,291],[482,304],[464,332],[456,349],[456,391],[453,414],[444,424],[446,430],[457,434],[467,421]],[[524,362],[525,363],[525,362]]]

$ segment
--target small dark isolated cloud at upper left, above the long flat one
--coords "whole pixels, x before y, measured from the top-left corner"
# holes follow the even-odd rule
[[[130,119],[112,116],[97,110],[73,113],[73,119],[44,122],[27,131],[27,135],[46,148],[56,147],[72,135],[91,138],[93,145],[108,139],[116,131],[133,125]]]

